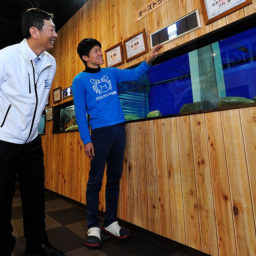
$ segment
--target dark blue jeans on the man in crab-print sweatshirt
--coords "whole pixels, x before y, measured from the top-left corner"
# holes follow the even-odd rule
[[[92,130],[94,159],[90,163],[89,179],[86,188],[86,211],[88,228],[100,227],[99,192],[106,168],[106,211],[104,226],[116,221],[119,184],[123,170],[125,129],[124,124],[116,124]]]

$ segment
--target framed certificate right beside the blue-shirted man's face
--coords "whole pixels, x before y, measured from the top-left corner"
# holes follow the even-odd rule
[[[105,50],[107,67],[116,67],[124,63],[122,42]]]

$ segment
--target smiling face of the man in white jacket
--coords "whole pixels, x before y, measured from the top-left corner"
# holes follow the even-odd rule
[[[55,32],[55,26],[52,20],[44,20],[44,26],[41,31],[38,30],[38,46],[44,50],[50,50],[53,48],[54,40],[58,37]]]

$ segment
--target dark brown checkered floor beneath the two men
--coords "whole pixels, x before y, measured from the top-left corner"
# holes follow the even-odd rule
[[[86,248],[86,210],[48,192],[45,193],[46,229],[52,245],[66,256],[188,256],[130,230],[127,240],[102,234],[100,249]],[[18,182],[13,200],[12,225],[16,246],[12,256],[24,256],[25,238]]]

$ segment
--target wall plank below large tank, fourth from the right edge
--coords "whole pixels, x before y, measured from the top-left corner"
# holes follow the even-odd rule
[[[204,114],[190,116],[202,251],[218,255],[214,196]]]

